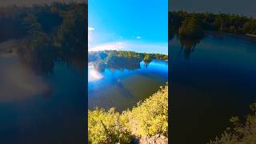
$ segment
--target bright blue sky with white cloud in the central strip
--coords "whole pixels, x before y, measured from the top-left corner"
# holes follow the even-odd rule
[[[168,0],[89,0],[89,50],[168,53]]]

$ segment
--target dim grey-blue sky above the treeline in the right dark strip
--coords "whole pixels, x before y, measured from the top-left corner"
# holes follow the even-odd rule
[[[242,14],[256,18],[256,0],[170,0],[169,10]]]

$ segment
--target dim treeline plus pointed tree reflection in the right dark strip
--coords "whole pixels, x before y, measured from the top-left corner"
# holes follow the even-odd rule
[[[256,19],[238,14],[169,12],[169,38],[178,38],[181,53],[190,58],[195,46],[204,38],[205,32],[223,32],[255,36]],[[170,45],[171,46],[171,45]]]

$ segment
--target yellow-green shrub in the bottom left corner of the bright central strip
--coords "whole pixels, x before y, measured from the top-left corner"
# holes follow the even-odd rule
[[[120,114],[114,108],[88,111],[88,133],[92,144],[98,143],[129,143],[130,133],[120,122]]]

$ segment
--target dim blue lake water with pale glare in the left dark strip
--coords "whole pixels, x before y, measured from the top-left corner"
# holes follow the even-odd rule
[[[83,143],[86,55],[25,58],[17,44],[0,43],[0,143]]]

